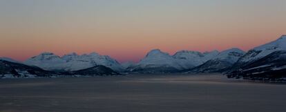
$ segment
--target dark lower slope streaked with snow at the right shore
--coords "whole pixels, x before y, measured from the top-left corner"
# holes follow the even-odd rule
[[[278,50],[261,59],[240,66],[228,77],[251,80],[277,80],[286,77],[286,50]]]

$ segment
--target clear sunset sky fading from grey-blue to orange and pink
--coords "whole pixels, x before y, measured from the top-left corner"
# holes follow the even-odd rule
[[[286,0],[0,0],[0,57],[249,50],[286,34]]]

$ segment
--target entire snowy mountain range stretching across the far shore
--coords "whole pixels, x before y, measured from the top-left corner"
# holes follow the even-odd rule
[[[24,62],[0,58],[0,77],[57,75],[120,75],[120,73],[226,73],[250,80],[281,80],[286,77],[286,35],[245,53],[239,48],[200,53],[180,50],[174,55],[151,50],[138,63],[120,64],[107,55],[70,53],[62,57],[41,53]],[[286,80],[286,79],[285,79]]]

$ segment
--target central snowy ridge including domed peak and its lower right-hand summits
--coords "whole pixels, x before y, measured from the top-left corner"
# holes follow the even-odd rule
[[[139,63],[129,67],[129,71],[140,71],[142,73],[171,73],[179,72],[204,64],[209,59],[216,57],[217,50],[200,53],[197,51],[180,50],[174,55],[164,53],[159,49],[151,50]]]

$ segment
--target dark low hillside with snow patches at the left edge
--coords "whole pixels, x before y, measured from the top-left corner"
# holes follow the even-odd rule
[[[35,66],[0,60],[0,78],[12,77],[49,77],[57,73],[44,71]]]

